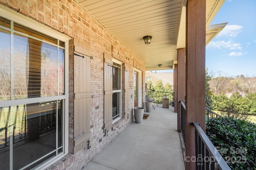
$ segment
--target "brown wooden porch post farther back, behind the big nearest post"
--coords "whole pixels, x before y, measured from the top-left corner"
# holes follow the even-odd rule
[[[178,132],[181,132],[181,104],[180,101],[185,102],[185,92],[186,92],[186,50],[185,48],[178,49],[178,76],[177,76],[177,130]]]

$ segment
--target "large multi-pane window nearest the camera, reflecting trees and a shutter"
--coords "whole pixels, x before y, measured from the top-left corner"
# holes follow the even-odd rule
[[[31,169],[63,155],[66,45],[0,17],[2,169]]]

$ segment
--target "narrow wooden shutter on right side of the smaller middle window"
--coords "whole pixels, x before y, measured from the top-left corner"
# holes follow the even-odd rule
[[[128,117],[129,114],[129,66],[124,63],[124,119]]]

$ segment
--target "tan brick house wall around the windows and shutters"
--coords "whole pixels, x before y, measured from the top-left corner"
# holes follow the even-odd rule
[[[129,98],[130,113],[128,119],[120,119],[113,124],[112,130],[103,137],[103,53],[129,65],[129,96],[133,96],[133,67],[142,70],[142,82],[145,80],[145,63],[128,49],[119,39],[95,20],[74,0],[0,0],[0,4],[32,18],[39,23],[80,39],[90,46],[90,131],[91,149],[73,153],[73,40],[69,42],[69,154],[48,167],[49,170],[73,170],[86,166],[106,145],[132,122],[133,97]],[[123,88],[123,86],[122,86]],[[142,84],[142,105],[144,105],[145,84]],[[122,98],[122,104],[123,104]],[[124,110],[122,109],[122,112]],[[100,142],[101,141],[101,142]]]

